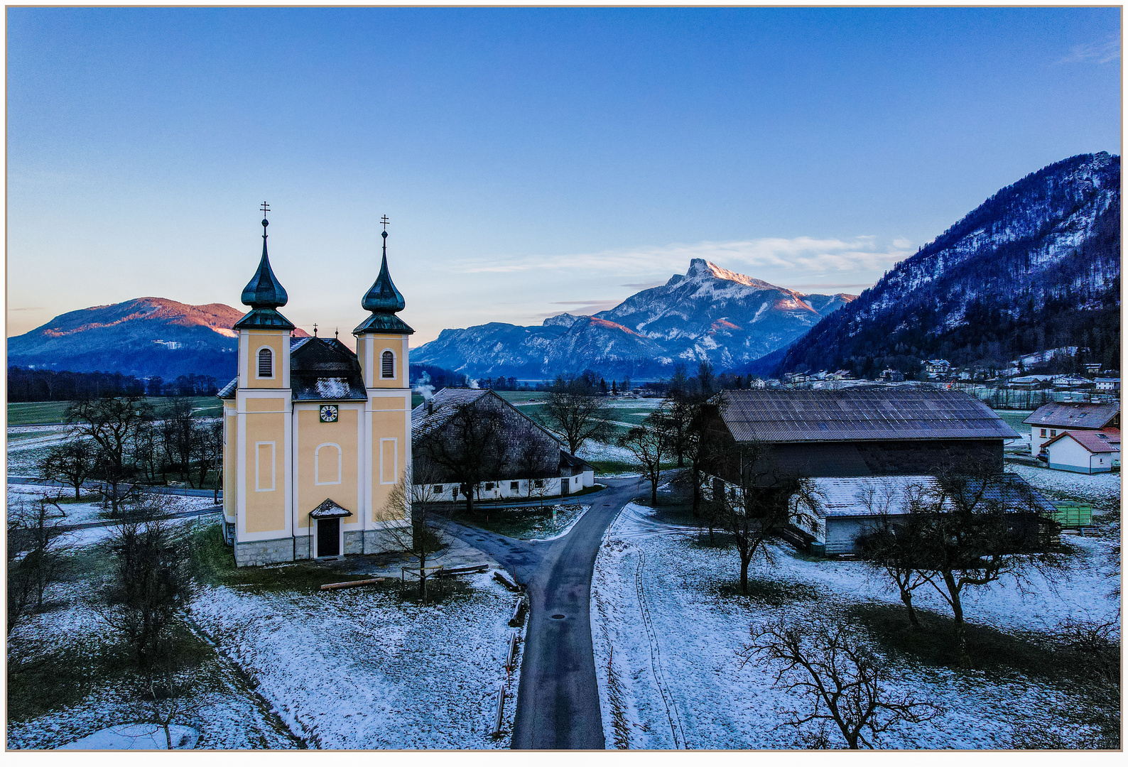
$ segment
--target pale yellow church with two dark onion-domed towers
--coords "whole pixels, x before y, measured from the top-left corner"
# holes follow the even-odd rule
[[[270,208],[263,203],[264,213]],[[386,550],[406,526],[386,509],[412,456],[404,297],[384,259],[361,298],[356,352],[337,338],[294,337],[285,289],[266,253],[243,290],[238,376],[223,400],[223,535],[239,566]]]

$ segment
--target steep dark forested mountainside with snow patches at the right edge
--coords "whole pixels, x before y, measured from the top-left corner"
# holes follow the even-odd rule
[[[1120,363],[1120,158],[1055,162],[999,189],[828,316],[758,372],[885,367],[920,359],[1005,368],[1045,349]]]

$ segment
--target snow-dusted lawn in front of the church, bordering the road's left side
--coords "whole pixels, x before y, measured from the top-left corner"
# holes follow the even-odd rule
[[[467,581],[426,606],[388,590],[217,587],[192,616],[311,748],[508,748],[512,698],[506,735],[490,731],[513,599],[491,573]]]

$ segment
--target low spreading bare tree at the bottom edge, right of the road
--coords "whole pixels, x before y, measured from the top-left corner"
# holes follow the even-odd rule
[[[796,729],[834,722],[847,748],[875,748],[890,728],[941,713],[932,703],[898,693],[881,659],[841,625],[779,620],[752,626],[750,633],[741,667],[767,661],[776,669],[776,687],[804,699],[802,711],[788,712],[787,724]]]

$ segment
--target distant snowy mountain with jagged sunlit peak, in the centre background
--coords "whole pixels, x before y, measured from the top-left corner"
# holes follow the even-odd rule
[[[686,274],[592,316],[523,327],[447,329],[412,350],[412,362],[470,376],[550,378],[584,368],[608,376],[669,374],[675,362],[748,363],[785,346],[854,296],[800,293],[702,258]]]

